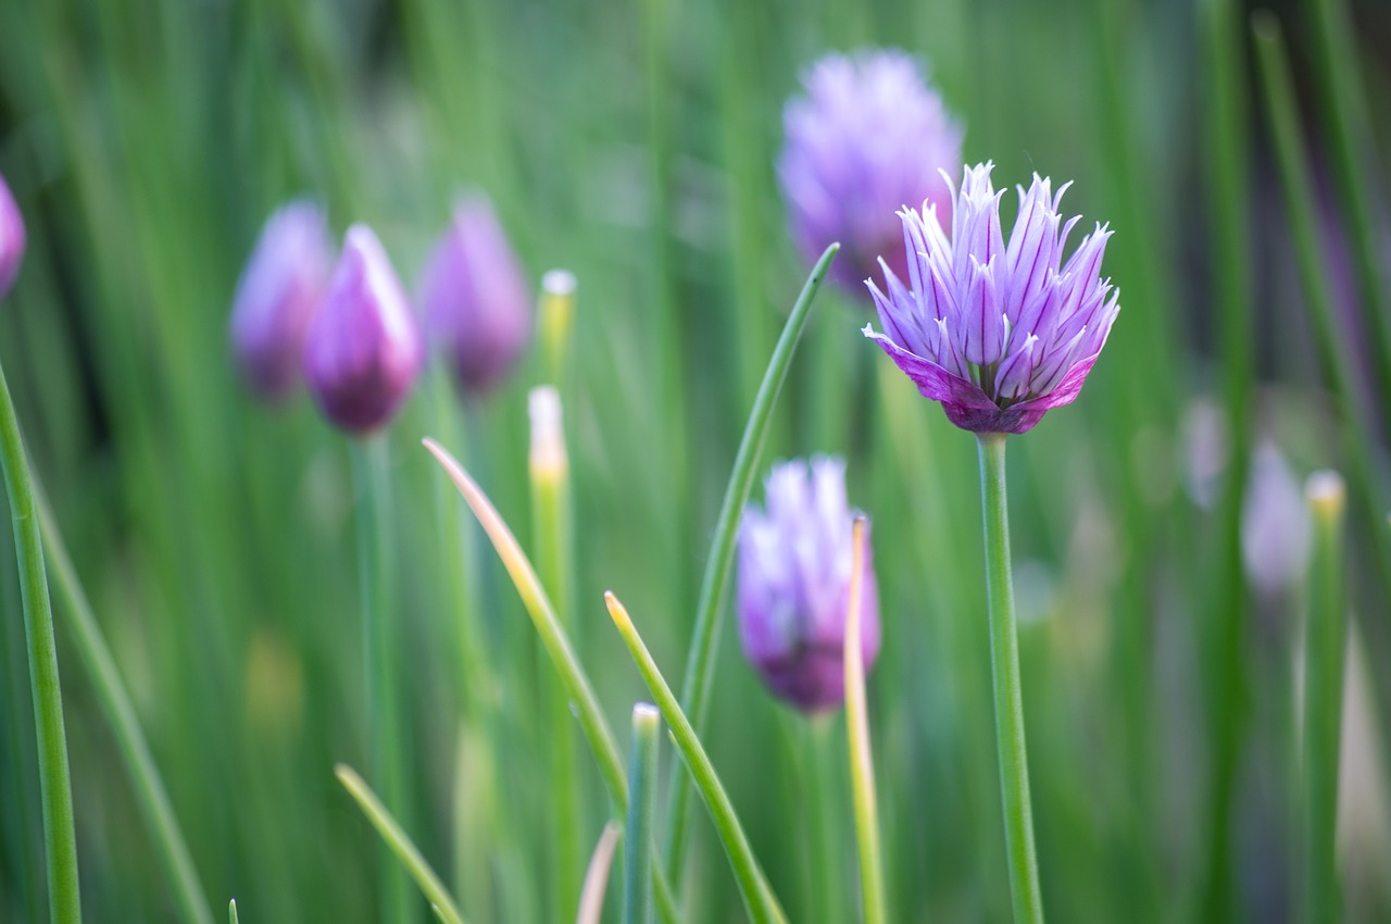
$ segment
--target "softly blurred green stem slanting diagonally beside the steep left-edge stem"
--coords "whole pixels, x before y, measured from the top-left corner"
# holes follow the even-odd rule
[[[92,605],[82,590],[82,582],[78,580],[77,568],[72,566],[68,550],[63,544],[53,511],[49,509],[47,498],[38,483],[33,486],[33,507],[39,518],[39,530],[43,533],[47,561],[53,566],[51,578],[57,591],[58,611],[67,615],[68,635],[90,678],[106,721],[115,735],[117,747],[121,749],[121,757],[125,760],[131,782],[135,785],[140,814],[145,815],[145,824],[149,825],[160,866],[164,868],[164,878],[174,891],[174,899],[178,902],[185,921],[213,924],[213,906],[199,882],[188,842],[184,841],[184,832],[174,815],[164,781],[160,778],[159,767],[150,754],[150,746],[140,731],[131,696],[125,692],[115,658],[111,657],[111,650],[102,636],[102,626],[92,612]]]

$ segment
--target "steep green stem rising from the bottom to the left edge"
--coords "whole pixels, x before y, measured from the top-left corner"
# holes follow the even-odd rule
[[[77,924],[82,920],[78,889],[78,841],[72,827],[72,781],[68,775],[68,742],[63,731],[63,690],[58,685],[58,648],[53,637],[53,610],[43,568],[43,540],[35,516],[29,461],[19,434],[10,384],[0,369],[0,462],[14,518],[14,544],[19,559],[19,591],[24,597],[24,636],[29,647],[29,686],[33,692],[33,726],[39,739],[39,793],[43,803],[43,845],[49,875],[49,920]]]

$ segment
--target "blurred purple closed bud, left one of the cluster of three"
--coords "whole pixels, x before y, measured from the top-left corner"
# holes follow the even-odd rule
[[[299,384],[305,335],[328,288],[334,246],[323,210],[296,200],[262,230],[232,303],[232,351],[246,383],[275,401]]]

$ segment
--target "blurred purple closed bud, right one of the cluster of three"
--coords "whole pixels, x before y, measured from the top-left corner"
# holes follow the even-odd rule
[[[531,292],[492,206],[460,202],[420,280],[426,328],[467,392],[492,388],[531,337]]]

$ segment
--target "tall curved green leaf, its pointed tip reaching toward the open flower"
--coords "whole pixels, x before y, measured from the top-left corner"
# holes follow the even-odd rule
[[[690,654],[686,658],[686,678],[682,682],[682,708],[691,717],[691,725],[697,733],[705,725],[705,712],[709,707],[709,687],[715,678],[715,643],[719,640],[721,607],[729,586],[729,568],[734,558],[739,516],[748,501],[748,491],[753,488],[754,473],[758,468],[758,456],[764,448],[764,437],[768,434],[768,422],[772,419],[778,395],[787,379],[787,367],[791,365],[793,353],[797,352],[797,341],[801,338],[803,328],[807,327],[811,303],[826,278],[826,271],[837,250],[840,250],[839,244],[826,248],[821,259],[817,260],[817,266],[812,267],[811,276],[807,277],[807,282],[801,287],[796,303],[793,303],[791,314],[787,316],[782,337],[778,338],[772,359],[768,362],[764,381],[758,385],[754,409],[748,415],[744,437],[740,440],[739,454],[734,456],[734,470],[729,476],[729,487],[725,488],[725,501],[719,508],[719,520],[715,523],[715,539],[711,543],[709,558],[705,559],[705,578],[701,580],[700,603],[696,607],[696,629]],[[686,867],[690,796],[690,782],[686,775],[680,772],[680,767],[672,767],[665,853],[666,874],[672,888],[677,891]]]

